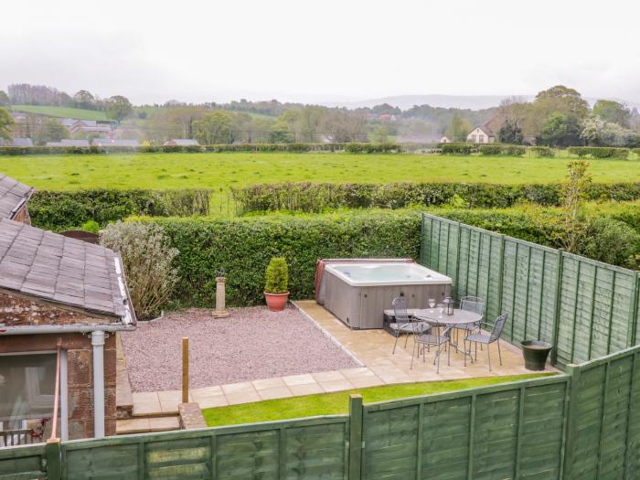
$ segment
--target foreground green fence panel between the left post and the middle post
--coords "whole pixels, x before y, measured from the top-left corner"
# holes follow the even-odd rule
[[[62,478],[347,478],[348,417],[63,443]]]

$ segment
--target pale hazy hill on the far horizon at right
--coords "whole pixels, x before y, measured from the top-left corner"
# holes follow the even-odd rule
[[[523,101],[533,101],[535,95],[399,95],[396,97],[382,97],[379,99],[370,99],[363,101],[335,101],[323,103],[327,107],[346,107],[348,109],[374,107],[382,103],[389,103],[401,110],[408,110],[413,105],[430,105],[432,107],[441,108],[457,108],[483,110],[491,107],[497,107],[503,99],[516,96]],[[585,97],[589,103],[593,104],[597,98]],[[625,101],[623,99],[607,99],[626,103],[630,108],[640,110],[640,102]]]

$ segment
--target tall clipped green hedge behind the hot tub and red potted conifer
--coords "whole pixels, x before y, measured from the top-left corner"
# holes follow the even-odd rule
[[[411,257],[420,254],[417,211],[245,219],[137,219],[164,227],[180,253],[176,300],[211,306],[216,272],[227,277],[231,305],[263,303],[264,272],[272,257],[289,265],[293,299],[312,298],[315,262],[321,258]]]

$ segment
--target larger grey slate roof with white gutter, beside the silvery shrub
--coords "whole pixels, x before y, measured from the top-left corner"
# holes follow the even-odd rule
[[[0,288],[135,323],[116,252],[9,219],[0,219]]]

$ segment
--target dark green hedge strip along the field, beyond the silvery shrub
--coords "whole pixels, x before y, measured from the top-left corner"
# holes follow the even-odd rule
[[[210,192],[189,190],[37,190],[29,201],[34,225],[54,231],[76,229],[89,220],[101,226],[132,215],[208,215]]]

